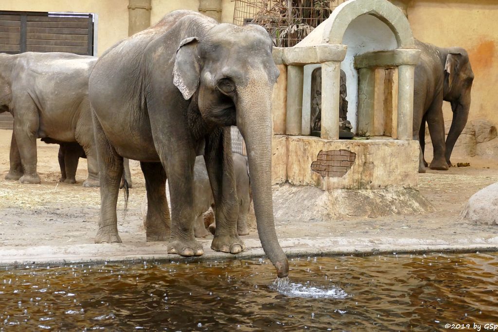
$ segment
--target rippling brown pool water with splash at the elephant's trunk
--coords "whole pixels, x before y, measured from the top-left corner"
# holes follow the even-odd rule
[[[490,331],[497,270],[498,253],[292,258],[280,285],[263,259],[4,266],[0,331]]]

